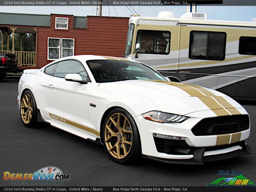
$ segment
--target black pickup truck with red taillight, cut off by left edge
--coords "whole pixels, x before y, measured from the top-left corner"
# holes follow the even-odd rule
[[[17,55],[11,53],[0,53],[0,81],[5,78],[7,73],[17,73],[17,64]]]

